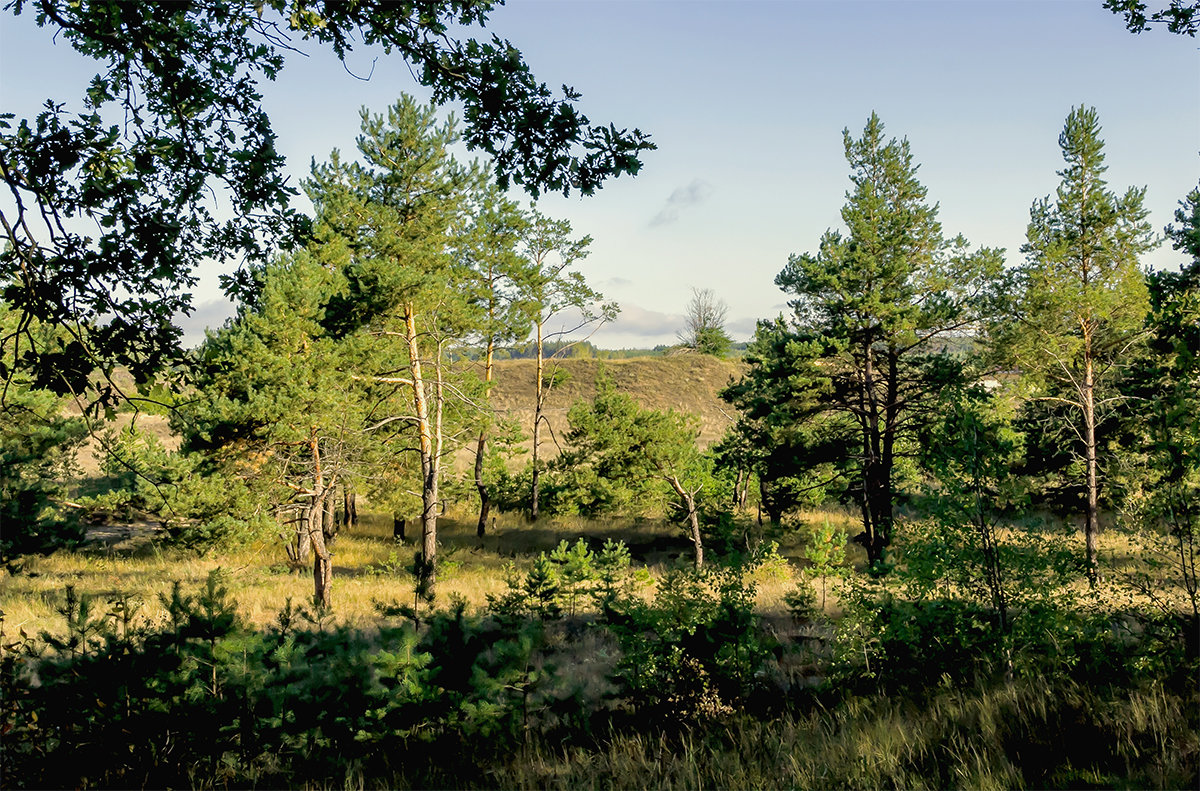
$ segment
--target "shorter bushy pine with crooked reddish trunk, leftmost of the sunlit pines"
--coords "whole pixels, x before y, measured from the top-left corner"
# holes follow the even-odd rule
[[[326,505],[370,450],[361,388],[340,373],[344,348],[322,325],[338,281],[302,251],[260,269],[254,305],[208,336],[194,396],[172,418],[185,451],[259,481],[266,502],[295,526],[293,562],[312,557],[313,597],[326,607],[334,533]]]

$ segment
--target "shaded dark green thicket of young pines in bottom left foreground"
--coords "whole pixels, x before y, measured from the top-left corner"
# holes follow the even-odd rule
[[[2,645],[6,786],[284,787],[352,771],[439,786],[571,700],[536,659],[539,624],[502,628],[461,601],[420,629],[377,631],[288,603],[256,631],[216,573],[163,605],[163,623],[131,625],[68,591],[65,637]],[[439,766],[444,755],[461,761]]]

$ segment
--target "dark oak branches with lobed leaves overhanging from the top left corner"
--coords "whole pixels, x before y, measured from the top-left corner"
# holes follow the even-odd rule
[[[398,54],[434,102],[461,102],[463,138],[490,155],[502,186],[590,194],[637,173],[654,149],[643,132],[592,124],[580,94],[539,82],[511,43],[457,32],[486,24],[494,5],[13,0],[6,10],[32,13],[100,71],[80,110],[53,97],[37,118],[0,116],[0,178],[13,206],[0,214],[4,298],[70,328],[73,356],[138,377],[172,359],[173,317],[190,312],[200,262],[260,262],[307,230],[289,208],[296,190],[259,88],[298,38],[340,58],[354,46]],[[244,296],[253,277],[244,268],[226,286]],[[29,348],[25,329],[0,343]],[[66,346],[35,347],[30,359],[65,360]],[[59,390],[85,383],[84,372],[50,367],[64,371],[46,377]]]

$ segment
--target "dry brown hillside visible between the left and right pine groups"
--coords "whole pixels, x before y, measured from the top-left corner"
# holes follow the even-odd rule
[[[566,372],[546,402],[546,417],[554,433],[566,430],[566,411],[580,399],[595,396],[595,379],[604,365],[617,389],[628,392],[643,407],[677,409],[700,417],[700,443],[708,447],[720,439],[733,412],[718,392],[730,379],[742,374],[743,364],[718,360],[704,354],[637,358],[632,360],[559,360],[551,362]],[[496,364],[492,403],[500,414],[516,419],[527,435],[533,424],[534,361],[500,360]],[[553,442],[546,439],[553,455]],[[529,443],[526,443],[527,445]]]

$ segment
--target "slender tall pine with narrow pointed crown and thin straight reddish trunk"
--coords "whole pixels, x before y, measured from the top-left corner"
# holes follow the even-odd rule
[[[1142,205],[1104,181],[1104,142],[1094,108],[1073,108],[1058,146],[1067,166],[1055,197],[1030,209],[1025,264],[997,347],[1032,397],[1066,408],[1084,462],[1087,576],[1097,580],[1100,438],[1097,426],[1120,400],[1115,384],[1132,359],[1148,308],[1140,257],[1157,245]]]

